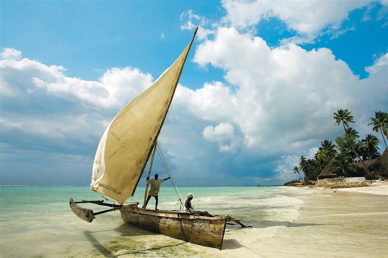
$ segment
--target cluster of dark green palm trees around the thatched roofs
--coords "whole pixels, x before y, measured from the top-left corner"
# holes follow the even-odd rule
[[[355,123],[354,117],[351,115],[352,111],[348,109],[339,109],[334,115],[334,125],[342,125],[344,135],[335,139],[335,144],[331,140],[323,140],[321,146],[318,148],[314,158],[308,159],[304,155],[299,158],[298,166],[293,167],[294,174],[298,173],[300,177],[300,170],[303,172],[306,181],[315,181],[319,174],[329,161],[334,158],[333,172],[338,176],[352,177],[370,176],[371,173],[364,161],[375,159],[380,156],[379,139],[367,134],[365,138],[360,139],[359,133],[349,126]],[[374,117],[371,117],[372,131],[380,133],[384,143],[387,147],[388,141],[388,113],[382,111],[375,111]],[[350,163],[360,162],[363,169],[355,169],[350,166]]]

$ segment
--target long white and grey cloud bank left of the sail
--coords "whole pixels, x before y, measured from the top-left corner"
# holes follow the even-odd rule
[[[100,137],[109,119],[152,83],[152,76],[137,68],[108,69],[98,81],[88,81],[67,77],[62,66],[21,59],[16,49],[4,49],[1,57],[0,123],[5,133],[17,130],[78,141]],[[25,112],[14,106],[26,108]]]

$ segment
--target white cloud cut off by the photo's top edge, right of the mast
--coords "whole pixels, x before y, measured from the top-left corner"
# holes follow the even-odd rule
[[[223,0],[226,9],[224,22],[238,29],[256,26],[261,20],[276,17],[289,29],[306,37],[300,42],[314,39],[326,27],[339,28],[350,11],[367,6],[372,0],[359,1],[238,1]]]

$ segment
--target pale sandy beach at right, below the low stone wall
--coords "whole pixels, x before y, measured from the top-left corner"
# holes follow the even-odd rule
[[[254,247],[261,257],[388,257],[387,185],[293,191],[300,216]]]

